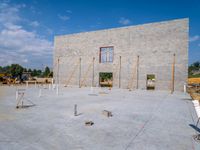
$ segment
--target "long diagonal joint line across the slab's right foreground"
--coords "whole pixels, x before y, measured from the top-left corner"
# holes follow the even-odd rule
[[[139,131],[136,133],[135,136],[133,136],[133,138],[131,139],[131,141],[128,143],[128,145],[125,147],[125,150],[128,150],[128,148],[131,146],[131,144],[135,141],[135,139],[145,130],[145,127],[147,126],[147,124],[153,120],[154,117],[154,113],[157,112],[160,108],[161,102],[164,101],[166,99],[168,95],[166,95],[163,100],[161,100],[158,105],[155,107],[154,111],[152,112],[151,116],[149,117],[149,119],[147,119],[145,121],[145,123],[140,127]]]

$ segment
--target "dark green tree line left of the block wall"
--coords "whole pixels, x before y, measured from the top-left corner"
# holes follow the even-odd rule
[[[22,78],[24,73],[29,73],[32,77],[53,77],[53,72],[46,66],[45,70],[40,69],[27,69],[19,64],[11,64],[8,66],[0,66],[0,73],[10,75],[13,78]]]

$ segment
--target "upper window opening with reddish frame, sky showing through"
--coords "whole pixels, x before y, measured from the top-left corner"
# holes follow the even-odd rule
[[[100,48],[100,63],[113,62],[113,46]]]

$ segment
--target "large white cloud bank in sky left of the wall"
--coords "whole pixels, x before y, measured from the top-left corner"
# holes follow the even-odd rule
[[[52,42],[20,25],[20,21],[23,19],[19,16],[19,12],[24,7],[25,5],[0,4],[1,66],[11,63],[25,65],[29,62],[30,65],[34,63],[44,64],[44,57],[52,57]],[[34,21],[32,25],[37,26],[39,23]]]

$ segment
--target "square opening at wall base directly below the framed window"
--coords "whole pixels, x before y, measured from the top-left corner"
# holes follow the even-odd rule
[[[99,73],[99,85],[101,87],[112,87],[113,73],[112,72],[100,72]]]

